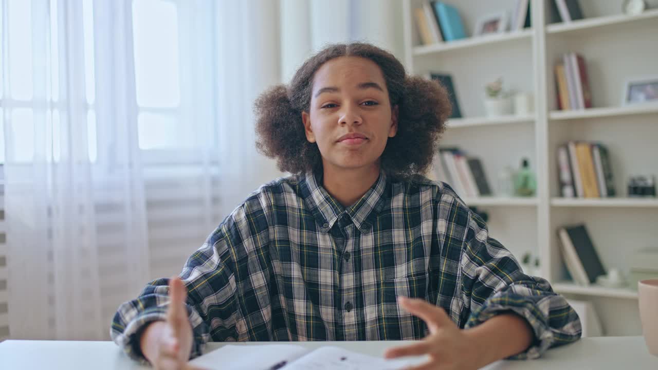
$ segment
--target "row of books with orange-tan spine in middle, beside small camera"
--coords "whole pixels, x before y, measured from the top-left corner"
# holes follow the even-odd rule
[[[605,145],[570,141],[557,148],[560,193],[564,198],[608,198],[617,195]]]

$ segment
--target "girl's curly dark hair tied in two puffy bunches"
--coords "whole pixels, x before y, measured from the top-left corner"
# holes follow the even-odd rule
[[[362,57],[376,63],[384,74],[391,107],[399,107],[397,134],[386,142],[382,169],[397,178],[426,171],[451,112],[447,92],[438,82],[407,75],[391,53],[368,43],[328,45],[305,61],[290,86],[281,84],[263,92],[255,103],[259,151],[276,159],[283,172],[322,169],[320,149],[307,141],[301,113],[309,112],[316,70],[338,57]]]

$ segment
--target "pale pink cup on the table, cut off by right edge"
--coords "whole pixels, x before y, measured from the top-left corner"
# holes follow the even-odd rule
[[[638,282],[642,333],[649,353],[658,356],[658,278]]]

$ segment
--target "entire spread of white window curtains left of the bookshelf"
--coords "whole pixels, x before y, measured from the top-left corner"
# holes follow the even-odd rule
[[[10,338],[109,338],[281,175],[255,151],[257,95],[324,43],[401,40],[394,0],[0,4]]]

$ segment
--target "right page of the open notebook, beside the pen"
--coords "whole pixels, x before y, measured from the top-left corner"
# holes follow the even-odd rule
[[[426,357],[384,359],[326,346],[290,363],[282,370],[397,370],[426,361]]]

